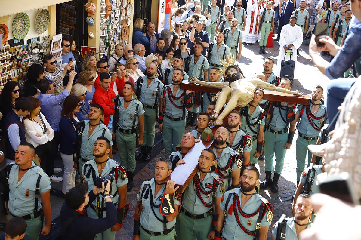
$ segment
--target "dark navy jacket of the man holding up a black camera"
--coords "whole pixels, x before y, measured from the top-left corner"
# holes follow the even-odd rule
[[[95,200],[96,196],[93,191],[89,193],[89,203]],[[88,205],[89,206],[89,205]],[[87,208],[87,206],[86,206]],[[65,236],[61,239],[66,240],[93,240],[96,234],[99,234],[117,223],[117,209],[113,202],[105,202],[105,218],[93,219],[87,215],[77,218],[65,231]],[[64,202],[60,210],[60,223],[75,215],[81,215],[78,211],[69,208]]]

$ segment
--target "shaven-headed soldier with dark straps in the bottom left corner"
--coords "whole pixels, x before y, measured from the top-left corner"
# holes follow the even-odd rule
[[[6,171],[10,190],[5,202],[6,218],[23,218],[27,224],[24,239],[30,240],[38,240],[40,232],[48,235],[51,222],[50,179],[32,161],[34,156],[32,144],[20,143],[15,152],[15,164],[10,163]]]

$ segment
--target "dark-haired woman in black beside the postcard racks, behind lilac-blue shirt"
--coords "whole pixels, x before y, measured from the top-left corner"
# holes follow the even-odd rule
[[[24,97],[35,96],[38,93],[39,82],[44,79],[44,67],[33,64],[27,71],[27,81],[25,83]]]

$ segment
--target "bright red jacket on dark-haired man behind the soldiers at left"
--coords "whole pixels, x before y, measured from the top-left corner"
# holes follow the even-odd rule
[[[110,117],[110,115],[113,115],[115,112],[115,110],[114,110],[115,97],[116,97],[116,94],[111,87],[108,89],[108,91],[99,87],[94,92],[92,104],[97,103],[103,107],[105,126],[108,126],[109,117]]]

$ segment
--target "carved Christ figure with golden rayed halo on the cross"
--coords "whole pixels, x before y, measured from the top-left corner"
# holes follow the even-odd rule
[[[232,56],[230,56],[230,58],[232,58]],[[258,87],[266,88],[268,90],[275,90],[278,92],[290,93],[293,95],[302,95],[302,93],[299,91],[290,91],[285,88],[276,87],[273,84],[263,82],[258,78],[245,79],[242,71],[237,65],[233,65],[231,60],[229,63],[226,63],[223,60],[221,60],[221,62],[222,65],[225,67],[227,66],[227,68],[226,70],[219,70],[218,72],[226,74],[227,78],[230,80],[229,82],[204,82],[198,80],[195,77],[188,79],[189,83],[197,83],[205,87],[222,89],[220,93],[217,93],[216,107],[213,110],[213,114],[210,116],[210,118],[213,120],[209,123],[209,125],[222,125],[223,118],[225,118],[233,109],[235,109],[237,106],[246,106],[249,102],[252,101],[253,93]],[[222,113],[219,114],[219,111],[225,104],[227,104],[226,107],[223,109]]]

